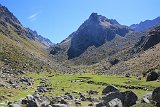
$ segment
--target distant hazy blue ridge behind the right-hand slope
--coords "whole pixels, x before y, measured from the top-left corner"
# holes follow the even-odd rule
[[[130,26],[130,28],[137,31],[137,32],[141,32],[141,31],[147,30],[157,24],[160,24],[160,17],[157,17],[153,20],[146,20],[144,22],[140,22],[139,24],[133,24]]]

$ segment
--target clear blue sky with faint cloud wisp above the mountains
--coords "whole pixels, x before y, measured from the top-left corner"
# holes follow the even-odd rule
[[[160,0],[0,0],[25,26],[58,43],[97,12],[131,25],[160,16]]]

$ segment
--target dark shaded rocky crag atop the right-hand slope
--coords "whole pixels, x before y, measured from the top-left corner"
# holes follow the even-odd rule
[[[150,29],[146,36],[141,37],[141,40],[134,47],[134,53],[145,51],[158,43],[160,43],[160,25]]]

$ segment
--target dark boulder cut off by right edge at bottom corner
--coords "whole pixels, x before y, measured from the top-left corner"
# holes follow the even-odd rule
[[[160,104],[160,87],[153,90],[152,100]]]

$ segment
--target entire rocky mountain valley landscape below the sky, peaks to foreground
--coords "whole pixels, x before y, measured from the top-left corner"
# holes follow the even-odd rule
[[[93,12],[55,44],[0,5],[0,107],[131,106],[160,107],[159,17],[126,26]]]

